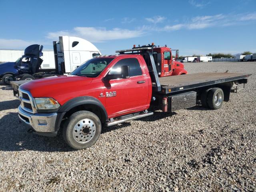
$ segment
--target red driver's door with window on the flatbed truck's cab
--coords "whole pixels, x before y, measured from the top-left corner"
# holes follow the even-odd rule
[[[109,116],[137,110],[148,101],[148,79],[142,73],[137,58],[124,58],[116,62],[109,74],[120,74],[121,66],[130,67],[130,78],[104,82],[106,110]]]

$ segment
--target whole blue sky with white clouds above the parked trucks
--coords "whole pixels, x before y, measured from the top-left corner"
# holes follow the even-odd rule
[[[0,49],[68,35],[102,54],[151,44],[180,55],[256,52],[256,0],[0,0]]]

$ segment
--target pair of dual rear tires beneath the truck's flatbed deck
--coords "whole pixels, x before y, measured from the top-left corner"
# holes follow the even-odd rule
[[[224,101],[224,93],[221,88],[211,88],[204,90],[201,94],[202,106],[211,109],[221,108]]]

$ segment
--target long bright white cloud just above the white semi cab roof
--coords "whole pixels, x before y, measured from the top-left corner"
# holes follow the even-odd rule
[[[120,28],[107,30],[106,28],[75,27],[73,30],[50,32],[48,33],[47,38],[58,39],[58,36],[67,35],[84,38],[90,42],[104,42],[107,40],[135,38],[142,34],[144,34],[142,30],[128,30]]]

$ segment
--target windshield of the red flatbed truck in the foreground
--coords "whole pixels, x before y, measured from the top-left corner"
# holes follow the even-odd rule
[[[97,77],[114,58],[93,58],[80,65],[71,75]]]

